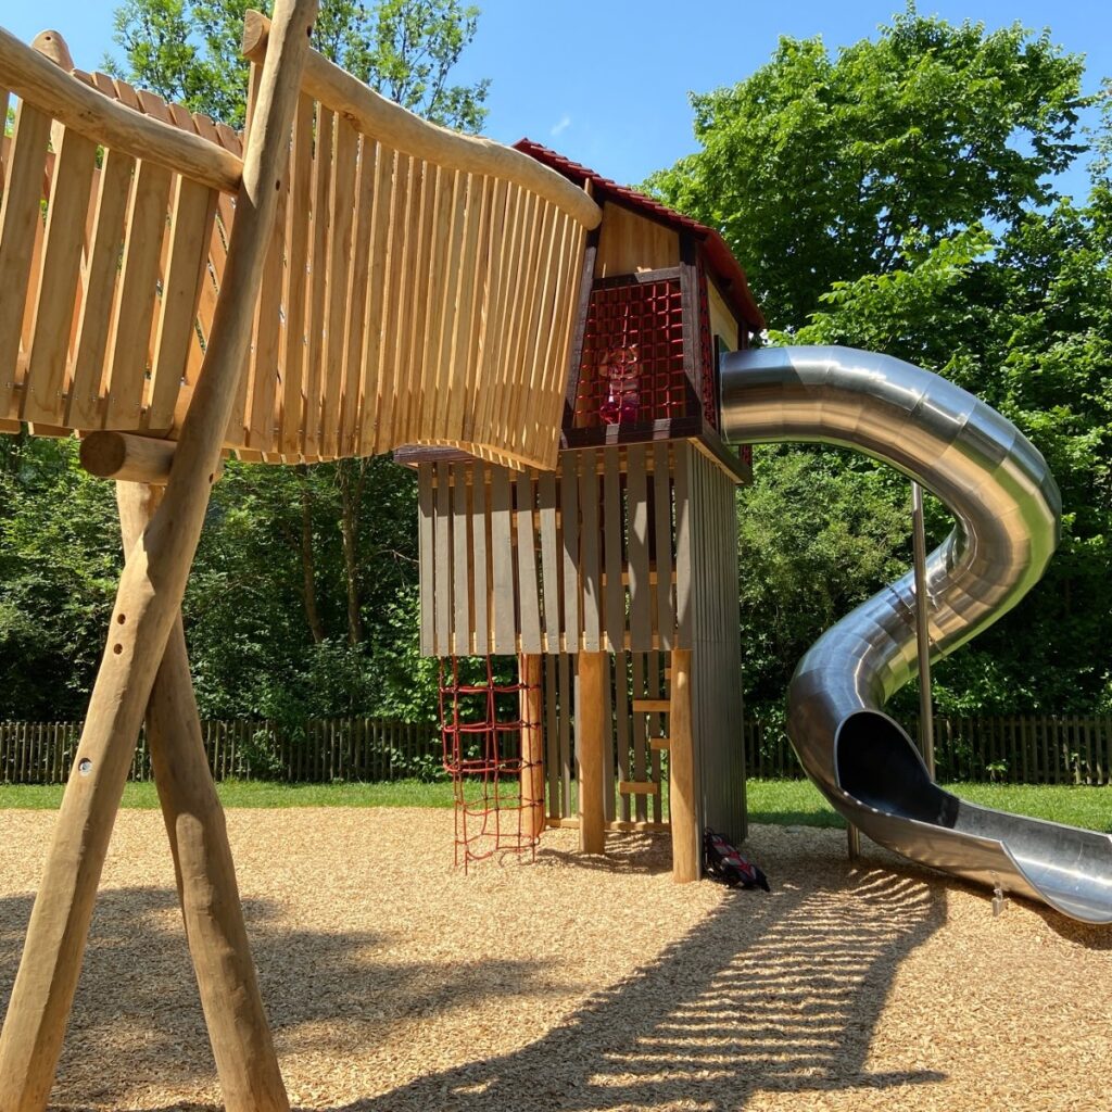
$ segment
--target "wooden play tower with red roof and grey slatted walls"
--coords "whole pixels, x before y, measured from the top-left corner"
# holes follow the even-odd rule
[[[421,651],[537,676],[539,725],[516,754],[537,787],[520,805],[543,797],[545,823],[578,827],[588,852],[608,831],[672,831],[692,880],[703,826],[746,825],[734,492],[751,468],[718,436],[717,363],[764,321],[717,232],[517,148],[603,212],[559,457],[548,471],[395,453],[419,475]]]

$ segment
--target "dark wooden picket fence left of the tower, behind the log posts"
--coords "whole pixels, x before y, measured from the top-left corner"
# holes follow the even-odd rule
[[[427,777],[440,762],[440,737],[428,723],[312,718],[289,725],[236,718],[202,722],[201,729],[217,780],[390,781]],[[0,783],[64,783],[80,735],[79,722],[0,723]],[[146,732],[131,778],[151,778]]]

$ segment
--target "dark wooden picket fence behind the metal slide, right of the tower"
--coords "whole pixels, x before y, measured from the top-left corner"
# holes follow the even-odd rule
[[[912,738],[915,719],[903,722]],[[749,776],[803,775],[782,723],[745,722]],[[934,719],[940,781],[1002,784],[1112,783],[1112,715],[996,715]]]

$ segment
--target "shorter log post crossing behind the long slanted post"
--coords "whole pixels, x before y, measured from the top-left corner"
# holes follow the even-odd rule
[[[161,492],[135,483],[118,483],[116,492],[130,552]],[[151,688],[147,744],[225,1106],[228,1112],[287,1112],[224,810],[205,753],[180,614]]]

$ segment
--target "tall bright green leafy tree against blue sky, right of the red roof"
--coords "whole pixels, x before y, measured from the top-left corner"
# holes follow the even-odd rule
[[[913,8],[831,54],[783,38],[768,64],[692,97],[697,153],[649,186],[722,230],[775,327],[834,281],[897,266],[977,221],[1053,199],[1076,140],[1083,63],[1049,34]]]

